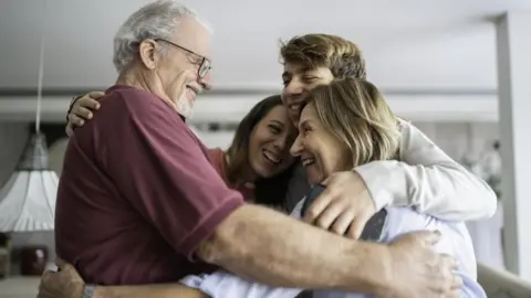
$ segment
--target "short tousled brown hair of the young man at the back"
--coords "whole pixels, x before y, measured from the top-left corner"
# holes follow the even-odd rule
[[[281,63],[304,67],[327,67],[335,78],[365,79],[367,71],[362,51],[356,44],[331,34],[305,34],[281,42]]]

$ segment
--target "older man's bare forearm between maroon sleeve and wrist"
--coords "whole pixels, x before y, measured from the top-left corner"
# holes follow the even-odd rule
[[[385,252],[378,244],[347,240],[279,212],[244,205],[218,226],[197,254],[270,286],[373,292],[385,283]]]

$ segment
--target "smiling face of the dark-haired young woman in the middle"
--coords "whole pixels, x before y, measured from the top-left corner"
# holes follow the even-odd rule
[[[290,148],[295,138],[288,109],[278,105],[252,130],[249,141],[249,163],[256,174],[273,177],[293,162]]]

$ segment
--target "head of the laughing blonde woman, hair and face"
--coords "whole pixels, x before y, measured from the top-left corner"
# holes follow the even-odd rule
[[[301,157],[311,183],[396,158],[399,148],[399,119],[376,86],[364,79],[339,79],[314,88],[302,106],[299,129],[292,155]]]

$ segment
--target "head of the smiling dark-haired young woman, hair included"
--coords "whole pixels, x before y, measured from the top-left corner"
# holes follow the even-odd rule
[[[235,139],[223,153],[226,171],[221,174],[229,185],[248,194],[247,199],[282,206],[295,163],[290,155],[294,139],[295,128],[280,95],[270,96],[238,125]]]

